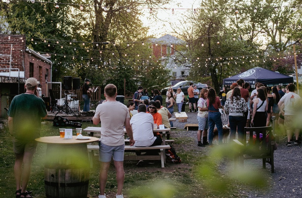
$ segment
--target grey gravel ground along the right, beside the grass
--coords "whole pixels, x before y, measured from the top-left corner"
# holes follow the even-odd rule
[[[197,124],[197,113],[187,112],[187,122],[173,122],[174,127],[177,129],[183,129],[182,132],[175,134],[175,137],[191,137],[195,141],[190,145],[186,145],[189,150],[202,151],[203,154],[209,153],[209,147],[198,147],[197,146],[197,131],[186,131],[184,129],[185,124]],[[228,117],[228,116],[227,116]],[[221,116],[223,120],[223,116]],[[224,124],[227,121],[223,121]],[[174,135],[173,135],[174,136]],[[271,173],[270,164],[266,164],[264,174],[267,176],[268,186],[265,187],[268,190],[255,190],[248,191],[246,189],[239,189],[242,195],[247,197],[302,197],[302,151],[301,146],[285,146],[287,140],[280,140],[278,149],[274,152],[274,164],[275,173]],[[176,147],[176,145],[175,145]],[[183,148],[182,148],[183,149]],[[177,149],[176,149],[177,151]],[[219,165],[219,169],[225,172],[227,165],[232,165],[230,162]],[[262,170],[262,160],[247,160],[245,161],[245,167],[251,166]]]

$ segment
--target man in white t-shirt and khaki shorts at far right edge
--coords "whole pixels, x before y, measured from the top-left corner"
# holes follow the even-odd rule
[[[297,125],[295,121],[297,121],[298,112],[297,110],[300,109],[302,105],[301,97],[295,94],[296,86],[293,83],[288,84],[288,94],[284,95],[280,101],[278,102],[278,107],[282,115],[284,115],[284,127],[287,133],[287,146],[291,146],[291,136],[293,134],[293,129],[295,129],[295,136],[296,145],[300,145],[301,141],[298,140],[299,138],[299,128],[295,128],[294,126]],[[281,105],[284,103],[284,111],[282,110]]]

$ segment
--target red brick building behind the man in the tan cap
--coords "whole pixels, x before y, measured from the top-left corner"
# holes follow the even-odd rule
[[[26,47],[23,36],[0,34],[0,118],[6,117],[5,108],[13,97],[24,93],[27,78],[36,78],[46,95],[51,67],[50,60]]]

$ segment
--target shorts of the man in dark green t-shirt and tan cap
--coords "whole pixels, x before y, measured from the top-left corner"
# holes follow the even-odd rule
[[[13,137],[14,152],[16,154],[35,153],[38,142],[35,140],[19,140]]]

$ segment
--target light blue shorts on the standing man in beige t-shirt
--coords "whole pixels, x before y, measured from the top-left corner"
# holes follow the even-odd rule
[[[124,161],[125,144],[120,146],[107,146],[99,141],[98,146],[100,147],[99,161],[110,162],[112,156],[114,161]]]

